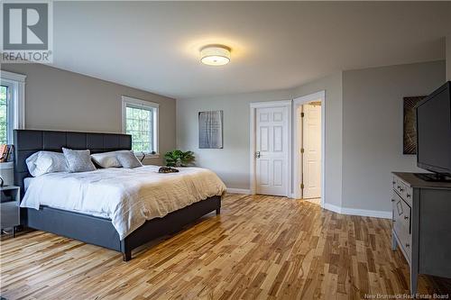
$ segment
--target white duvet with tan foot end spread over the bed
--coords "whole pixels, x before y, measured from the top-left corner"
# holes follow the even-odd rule
[[[111,219],[123,240],[146,220],[162,217],[207,197],[222,195],[224,183],[205,168],[101,168],[83,173],[51,173],[27,182],[21,207],[40,205]]]

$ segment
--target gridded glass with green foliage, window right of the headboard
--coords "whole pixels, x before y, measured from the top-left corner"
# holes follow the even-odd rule
[[[132,134],[132,150],[150,153],[153,150],[152,109],[126,106],[125,124],[127,134]]]

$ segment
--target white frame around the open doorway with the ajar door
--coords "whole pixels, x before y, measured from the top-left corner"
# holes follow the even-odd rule
[[[324,207],[326,198],[326,91],[303,95],[293,100],[293,197],[301,196],[299,182],[302,180],[302,159],[300,158],[299,118],[296,115],[300,105],[321,99],[321,207]]]

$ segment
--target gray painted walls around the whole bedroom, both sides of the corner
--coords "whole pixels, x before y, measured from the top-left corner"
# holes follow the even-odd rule
[[[121,95],[129,95],[161,104],[160,150],[175,148],[174,99],[42,65],[2,69],[27,75],[26,128],[121,132]],[[445,77],[445,61],[436,61],[339,72],[290,90],[179,99],[177,145],[194,150],[226,186],[248,189],[249,104],[326,90],[327,204],[390,211],[390,172],[419,170],[414,156],[402,155],[402,97],[427,95]],[[203,110],[224,111],[223,150],[198,149]]]

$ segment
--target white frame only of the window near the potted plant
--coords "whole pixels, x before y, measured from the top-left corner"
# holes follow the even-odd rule
[[[160,132],[158,130],[158,123],[159,123],[159,119],[158,119],[158,115],[159,115],[159,110],[160,110],[160,105],[158,103],[154,103],[154,102],[150,102],[150,101],[145,101],[145,100],[141,100],[141,99],[137,99],[137,98],[133,98],[127,95],[123,95],[122,96],[122,132],[126,133],[127,132],[127,124],[126,124],[126,118],[127,118],[127,114],[126,114],[126,110],[127,110],[127,106],[130,107],[136,107],[136,108],[146,108],[146,109],[152,109],[152,114],[153,114],[153,141],[152,141],[152,145],[153,146],[153,151],[155,151],[155,154],[152,154],[152,152],[144,152],[143,155],[146,158],[159,158],[160,157],[160,152],[159,152],[159,136],[160,136]],[[137,153],[138,155],[140,153]],[[143,157],[143,155],[141,156],[141,158]]]

